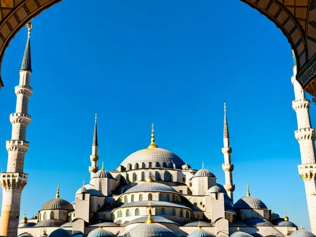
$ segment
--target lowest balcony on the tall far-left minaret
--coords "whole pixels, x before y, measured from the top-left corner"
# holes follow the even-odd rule
[[[0,186],[5,191],[23,190],[27,184],[26,173],[0,173]]]

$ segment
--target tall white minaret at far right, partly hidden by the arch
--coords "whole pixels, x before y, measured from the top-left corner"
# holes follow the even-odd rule
[[[305,98],[305,92],[300,83],[296,80],[296,59],[292,50],[293,76],[291,77],[294,86],[295,100],[292,107],[296,112],[297,127],[295,138],[300,145],[301,165],[298,165],[299,174],[304,184],[307,199],[307,208],[312,233],[316,234],[316,162],[315,162],[315,129],[312,128],[309,116],[311,102]]]

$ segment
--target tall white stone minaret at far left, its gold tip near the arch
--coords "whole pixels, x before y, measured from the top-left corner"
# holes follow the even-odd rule
[[[28,99],[32,94],[30,87],[31,46],[30,34],[31,22],[27,23],[28,38],[20,70],[20,83],[15,87],[16,110],[10,114],[12,124],[11,140],[7,140],[8,150],[7,172],[0,173],[0,184],[3,189],[2,210],[0,217],[0,236],[16,237],[20,217],[21,194],[27,183],[28,174],[23,173],[24,156],[28,149],[26,141],[26,128],[31,121],[28,115]]]

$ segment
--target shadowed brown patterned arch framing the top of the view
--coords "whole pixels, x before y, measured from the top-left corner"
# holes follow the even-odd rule
[[[0,0],[0,60],[27,21],[61,0]],[[316,0],[240,0],[273,21],[294,49],[297,80],[316,95]],[[243,14],[243,12],[240,12]],[[260,27],[258,25],[258,27]],[[289,53],[290,55],[290,53]],[[1,68],[1,65],[0,65]],[[315,84],[316,85],[316,84]],[[0,77],[0,88],[3,86]]]

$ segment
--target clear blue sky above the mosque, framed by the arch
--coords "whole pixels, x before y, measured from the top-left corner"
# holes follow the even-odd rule
[[[75,4],[76,3],[76,4]],[[88,181],[94,114],[107,170],[150,143],[204,166],[224,183],[223,103],[233,148],[234,201],[250,193],[310,230],[296,115],[292,53],[281,30],[238,1],[65,0],[32,21],[33,95],[29,100],[29,174],[21,213],[55,197],[75,200]],[[260,26],[260,27],[258,27]],[[26,27],[10,42],[1,76],[1,167]],[[312,123],[316,126],[312,106]],[[2,193],[0,194],[2,197]],[[21,215],[22,218],[22,215]]]

